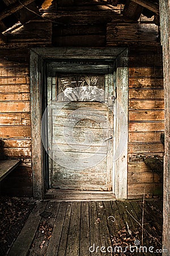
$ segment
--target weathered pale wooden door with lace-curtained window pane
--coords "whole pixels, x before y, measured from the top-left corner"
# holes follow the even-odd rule
[[[112,189],[113,100],[108,104],[108,87],[113,94],[113,76],[54,72],[50,78],[50,188]]]

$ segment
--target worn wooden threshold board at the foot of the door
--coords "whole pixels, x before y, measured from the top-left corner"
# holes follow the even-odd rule
[[[112,191],[78,191],[49,189],[44,200],[55,201],[110,201],[116,200]]]

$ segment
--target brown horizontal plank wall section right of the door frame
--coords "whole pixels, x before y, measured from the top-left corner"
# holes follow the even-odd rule
[[[162,53],[159,48],[130,48],[128,197],[159,195],[160,176],[143,162],[145,156],[163,156],[164,132]]]

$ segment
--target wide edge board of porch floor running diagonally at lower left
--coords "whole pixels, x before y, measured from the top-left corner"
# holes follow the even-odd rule
[[[40,213],[45,210],[47,202],[37,203],[36,207],[29,214],[28,220],[12,246],[9,256],[26,256],[28,255],[29,247],[36,234],[39,222],[41,220]]]

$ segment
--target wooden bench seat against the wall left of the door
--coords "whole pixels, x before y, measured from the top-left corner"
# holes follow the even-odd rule
[[[0,181],[21,163],[20,159],[0,160]]]

